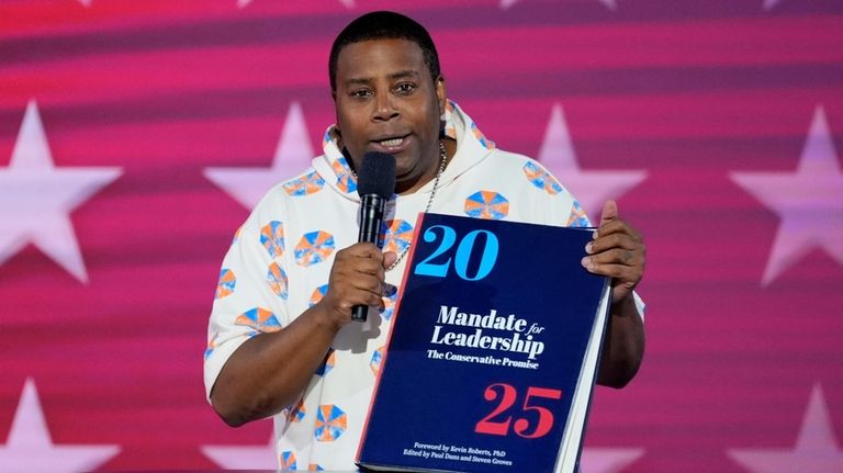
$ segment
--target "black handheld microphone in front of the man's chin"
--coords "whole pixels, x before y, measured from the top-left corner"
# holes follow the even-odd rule
[[[383,248],[383,207],[395,190],[395,157],[385,153],[367,153],[360,166],[357,179],[357,193],[360,194],[360,233],[358,241],[373,243]],[[366,322],[369,307],[351,307],[351,319]]]

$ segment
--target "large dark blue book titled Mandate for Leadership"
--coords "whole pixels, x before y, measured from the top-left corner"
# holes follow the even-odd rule
[[[611,293],[592,232],[419,216],[359,466],[576,470]]]

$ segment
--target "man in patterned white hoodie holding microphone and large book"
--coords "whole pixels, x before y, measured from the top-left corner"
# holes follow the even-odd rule
[[[353,468],[394,308],[412,225],[437,212],[587,225],[578,203],[536,161],[494,148],[446,98],[427,31],[390,12],[366,14],[337,37],[329,75],[337,123],[324,155],[274,187],[243,225],[221,272],[209,328],[205,385],[232,426],[274,416],[282,469]],[[357,241],[362,156],[395,156],[382,252]],[[474,212],[491,192],[506,211]],[[501,201],[501,202],[503,202]],[[608,202],[583,266],[614,278],[599,382],[625,385],[643,353],[641,237]],[[351,307],[373,307],[364,324]],[[376,309],[376,311],[375,311]]]

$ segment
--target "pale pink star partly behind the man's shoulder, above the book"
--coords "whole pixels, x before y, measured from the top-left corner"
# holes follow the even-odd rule
[[[544,142],[539,150],[539,161],[574,194],[593,223],[600,217],[600,210],[606,201],[617,200],[647,179],[647,171],[580,169],[562,106],[559,104],[554,105],[551,112]]]

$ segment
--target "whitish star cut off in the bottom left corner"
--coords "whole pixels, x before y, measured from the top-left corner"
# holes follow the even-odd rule
[[[119,446],[56,446],[49,437],[35,383],[27,379],[14,413],[0,470],[12,472],[91,471],[120,453]]]

